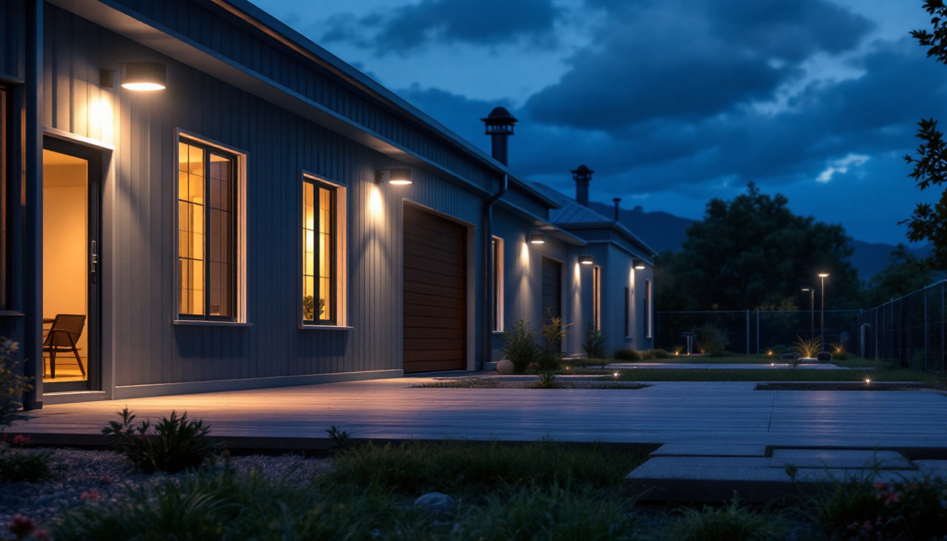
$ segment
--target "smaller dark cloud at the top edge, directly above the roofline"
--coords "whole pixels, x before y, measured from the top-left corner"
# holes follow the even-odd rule
[[[552,0],[421,0],[386,14],[334,16],[322,41],[347,41],[379,54],[404,54],[432,42],[491,46],[527,39],[551,46],[561,15]]]

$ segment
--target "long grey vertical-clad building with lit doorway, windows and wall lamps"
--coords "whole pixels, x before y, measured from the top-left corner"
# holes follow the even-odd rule
[[[621,239],[248,2],[8,0],[0,28],[28,406],[483,370],[545,306],[615,312],[580,261]]]

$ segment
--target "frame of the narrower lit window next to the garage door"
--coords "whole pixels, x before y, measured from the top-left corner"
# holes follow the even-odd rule
[[[305,309],[303,308],[302,302],[299,302],[299,320],[301,321],[301,325],[303,327],[335,327],[335,326],[338,326],[338,323],[341,320],[340,315],[341,315],[341,307],[342,307],[342,304],[339,301],[340,300],[339,290],[341,289],[341,284],[339,283],[339,271],[340,271],[339,269],[339,199],[340,199],[340,192],[342,188],[339,187],[338,185],[332,184],[331,182],[327,182],[325,179],[321,177],[318,177],[312,174],[302,175],[301,188],[305,189],[306,185],[313,186],[313,203],[316,201],[316,198],[318,197],[320,188],[328,189],[331,193],[330,218],[329,218],[330,231],[331,231],[329,234],[329,239],[331,243],[330,248],[329,248],[329,258],[330,258],[329,268],[330,268],[331,275],[329,277],[329,283],[330,283],[330,288],[331,288],[330,299],[331,299],[332,307],[331,307],[331,318],[329,319],[306,319]],[[305,203],[305,200],[302,199],[302,194],[300,194],[300,201],[298,205],[299,220],[296,222],[297,226],[302,225],[305,220],[305,215],[303,214],[303,208],[302,208],[304,203]],[[318,208],[318,204],[316,204],[315,207]],[[318,237],[318,235],[321,234],[318,228],[318,222],[319,222],[318,218],[313,217],[313,227],[314,227],[313,236],[314,237]],[[298,244],[299,248],[302,248],[304,243],[306,242],[305,232],[303,232],[303,229],[304,227],[299,228],[299,230],[301,231],[300,236],[302,237],[301,239],[302,242]],[[318,270],[317,270],[319,266],[318,261],[317,261],[317,258],[318,258],[317,245],[318,245],[318,239],[317,238],[313,239],[313,272],[316,273],[313,275],[313,280],[315,282],[314,283],[315,288],[318,288],[318,282],[320,281],[320,277],[318,276]],[[299,273],[299,277],[300,277],[299,286],[300,287],[299,287],[299,296],[297,298],[298,300],[301,300],[302,298],[304,298],[304,293],[306,291],[306,285],[304,282],[305,277],[306,277],[306,275],[304,274],[306,271],[305,257],[306,257],[305,250],[300,249],[299,250],[299,263],[300,263],[299,270],[301,272]],[[313,314],[314,312],[315,311],[313,310]]]

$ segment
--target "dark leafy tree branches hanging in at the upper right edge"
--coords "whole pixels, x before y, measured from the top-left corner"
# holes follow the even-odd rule
[[[944,20],[947,7],[944,7],[943,0],[926,0],[924,9],[933,16],[931,25],[934,26],[934,32],[912,30],[911,36],[921,46],[928,47],[928,57],[947,63],[947,25],[944,24],[947,22]],[[923,142],[916,151],[917,156],[904,156],[907,163],[914,164],[914,171],[908,176],[917,182],[921,190],[939,187],[947,181],[947,145],[934,118],[921,119],[918,126],[916,136]],[[933,245],[930,257],[924,261],[928,266],[947,269],[947,189],[933,206],[919,203],[911,217],[901,224],[908,225],[907,238],[912,243],[929,241]]]

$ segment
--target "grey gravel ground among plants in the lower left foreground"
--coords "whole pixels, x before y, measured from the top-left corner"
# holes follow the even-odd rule
[[[125,496],[126,485],[141,487],[175,477],[136,473],[129,460],[111,451],[69,448],[51,451],[51,464],[56,469],[53,478],[38,483],[0,481],[0,539],[4,538],[6,525],[14,514],[24,514],[43,524],[62,514],[63,507],[76,507],[90,495],[95,497],[92,491],[98,492],[100,501],[117,501]],[[297,455],[253,455],[232,457],[230,464],[240,473],[259,468],[269,478],[290,474],[290,479],[305,482],[329,467],[330,460],[306,459]],[[296,468],[295,472],[293,468]]]

